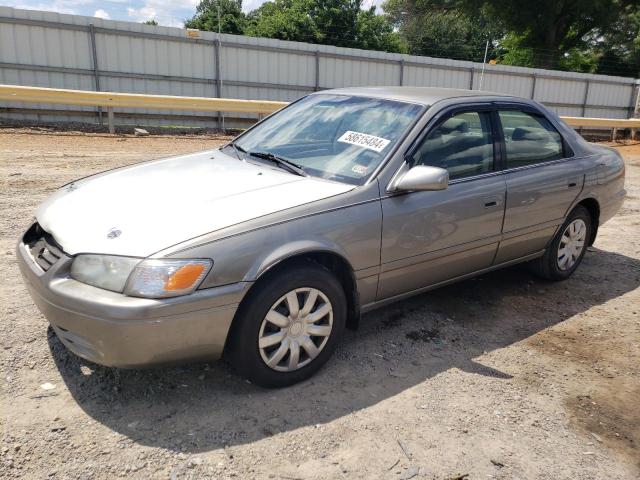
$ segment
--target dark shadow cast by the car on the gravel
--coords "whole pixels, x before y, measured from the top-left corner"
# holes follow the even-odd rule
[[[474,360],[640,285],[640,261],[598,249],[568,281],[523,267],[493,272],[365,315],[312,379],[264,390],[222,362],[149,370],[88,363],[49,332],[56,365],[78,405],[141,445],[195,453],[330,422],[458,368],[509,381]]]

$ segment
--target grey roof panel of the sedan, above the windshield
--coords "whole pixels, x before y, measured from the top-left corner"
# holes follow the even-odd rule
[[[359,97],[384,98],[402,102],[433,105],[440,100],[459,97],[510,97],[500,93],[484,92],[481,90],[464,90],[461,88],[437,87],[348,87],[322,90],[317,94],[354,95]],[[512,97],[513,98],[513,97]]]

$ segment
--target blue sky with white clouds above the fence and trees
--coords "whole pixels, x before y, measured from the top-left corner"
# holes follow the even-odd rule
[[[243,0],[245,12],[260,6],[265,0]],[[182,27],[191,18],[199,0],[0,0],[0,4],[14,8],[46,10],[58,13],[88,15],[107,20],[144,22],[155,19],[160,25]],[[381,0],[364,0],[363,7],[381,3]]]

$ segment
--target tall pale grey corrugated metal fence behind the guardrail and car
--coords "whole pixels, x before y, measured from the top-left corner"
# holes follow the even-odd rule
[[[477,89],[482,64],[0,7],[0,84],[292,101],[361,85]],[[535,98],[560,115],[629,118],[631,78],[486,65],[483,90]],[[201,112],[116,110],[147,125],[216,126]],[[0,103],[0,118],[91,121],[99,109]],[[227,116],[228,117],[228,116]],[[227,126],[246,124],[234,114]]]

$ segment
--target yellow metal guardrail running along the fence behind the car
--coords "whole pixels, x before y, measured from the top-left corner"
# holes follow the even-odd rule
[[[269,100],[240,100],[232,98],[178,97],[172,95],[144,95],[138,93],[90,92],[62,88],[0,85],[0,100],[10,102],[49,103],[104,107],[109,116],[109,131],[114,132],[114,108],[145,108],[152,110],[191,110],[199,112],[240,112],[260,115],[273,113],[287,102]],[[635,137],[640,119],[560,117],[573,127],[611,128],[615,138],[618,129],[629,128]]]

